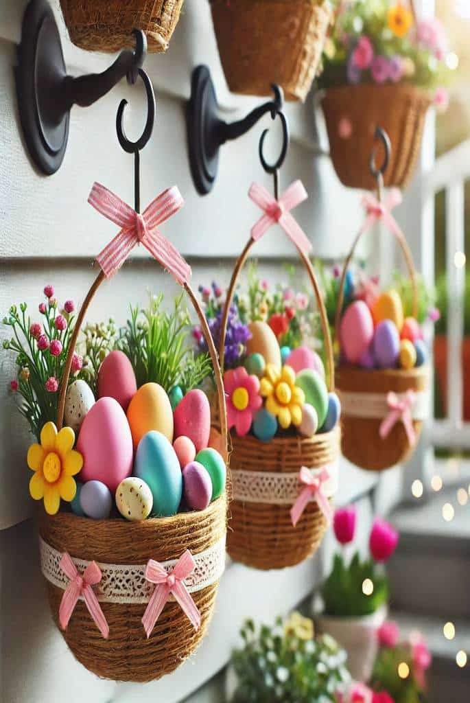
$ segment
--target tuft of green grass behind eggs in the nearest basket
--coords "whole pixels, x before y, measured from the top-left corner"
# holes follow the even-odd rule
[[[209,355],[196,356],[192,349],[190,314],[182,298],[183,293],[167,312],[161,309],[163,295],[150,295],[145,309],[131,306],[130,319],[119,330],[116,347],[130,359],[138,388],[154,382],[167,392],[178,385],[187,393],[211,373]]]

